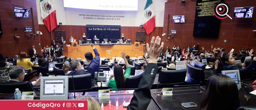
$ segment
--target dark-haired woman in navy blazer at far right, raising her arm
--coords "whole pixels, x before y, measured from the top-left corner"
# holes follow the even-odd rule
[[[240,74],[248,74],[250,73],[256,66],[256,57],[253,58],[253,61],[249,64],[247,68],[241,69],[233,66],[236,63],[235,59],[232,56],[226,55],[222,56],[221,61],[215,63],[217,65],[216,73],[221,73],[221,71],[226,70],[239,70]]]

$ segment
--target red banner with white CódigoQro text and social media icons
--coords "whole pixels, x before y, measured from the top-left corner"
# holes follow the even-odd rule
[[[1,109],[8,109],[13,103],[22,110],[87,110],[86,100],[0,100]]]

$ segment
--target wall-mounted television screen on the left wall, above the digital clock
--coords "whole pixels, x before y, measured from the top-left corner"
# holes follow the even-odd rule
[[[13,16],[28,18],[30,9],[14,7]]]

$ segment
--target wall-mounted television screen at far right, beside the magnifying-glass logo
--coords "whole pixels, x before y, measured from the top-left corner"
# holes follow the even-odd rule
[[[252,18],[254,7],[236,7],[234,8],[233,18]]]

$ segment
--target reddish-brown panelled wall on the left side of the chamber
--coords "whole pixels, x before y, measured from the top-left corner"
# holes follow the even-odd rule
[[[29,2],[29,3],[28,3]],[[32,45],[37,49],[37,54],[40,54],[40,36],[36,36],[36,39],[27,39],[25,36],[29,36],[29,32],[24,32],[25,27],[32,27],[31,12],[29,18],[13,17],[14,7],[27,8],[33,7],[35,31],[39,31],[38,19],[37,19],[37,7],[36,1],[28,0],[0,0],[0,18],[2,24],[3,35],[0,36],[0,53],[9,58],[18,55],[20,51],[26,52],[28,55],[29,49]],[[17,31],[14,31],[14,28]],[[13,38],[13,35],[20,38]]]

